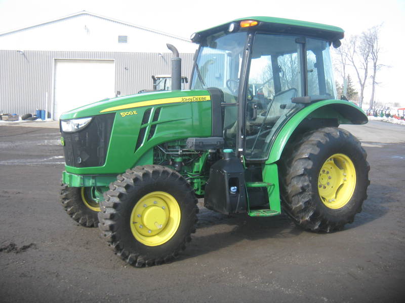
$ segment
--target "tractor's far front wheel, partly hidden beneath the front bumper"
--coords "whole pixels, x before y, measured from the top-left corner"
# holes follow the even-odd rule
[[[94,187],[69,187],[62,185],[61,203],[66,213],[85,227],[97,227],[100,206],[93,198]]]

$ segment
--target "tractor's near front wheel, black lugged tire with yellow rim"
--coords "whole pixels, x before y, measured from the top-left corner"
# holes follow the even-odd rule
[[[118,175],[105,192],[99,227],[116,254],[136,267],[171,262],[191,241],[197,199],[177,172],[146,165]]]

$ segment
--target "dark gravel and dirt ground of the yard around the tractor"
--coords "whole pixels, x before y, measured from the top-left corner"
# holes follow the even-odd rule
[[[180,258],[136,269],[63,211],[57,123],[1,125],[0,301],[403,302],[405,126],[344,128],[367,150],[371,185],[343,231],[306,232],[284,215],[223,216],[200,200]]]

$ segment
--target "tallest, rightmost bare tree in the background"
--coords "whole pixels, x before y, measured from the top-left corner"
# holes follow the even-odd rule
[[[376,74],[377,71],[381,69],[384,65],[379,64],[379,55],[381,52],[380,44],[379,44],[379,36],[380,36],[380,29],[381,29],[381,24],[373,26],[372,28],[369,28],[367,31],[363,32],[362,39],[367,43],[367,47],[370,51],[370,60],[372,66],[372,73],[373,75],[371,76],[372,79],[372,91],[371,91],[371,98],[370,98],[370,109],[373,108],[374,106],[374,92],[375,92],[375,86],[377,84],[376,82]]]

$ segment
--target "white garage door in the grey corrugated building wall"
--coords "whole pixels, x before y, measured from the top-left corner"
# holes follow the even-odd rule
[[[113,60],[56,60],[54,120],[67,111],[115,96]]]

